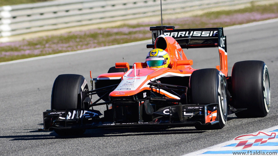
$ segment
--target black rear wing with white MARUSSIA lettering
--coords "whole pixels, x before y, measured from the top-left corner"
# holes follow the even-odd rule
[[[209,48],[221,47],[227,52],[226,36],[223,28],[197,28],[197,29],[176,29],[174,26],[150,27],[152,31],[152,44],[147,48],[154,48],[156,38],[161,35],[173,37],[182,48]]]

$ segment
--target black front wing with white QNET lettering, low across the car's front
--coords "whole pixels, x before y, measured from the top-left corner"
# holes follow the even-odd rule
[[[216,124],[219,122],[219,104],[176,105],[168,106],[153,112],[156,118],[152,122],[121,123],[115,118],[115,110],[112,121],[100,116],[98,110],[70,109],[64,111],[48,110],[43,112],[44,130],[54,129],[94,129],[117,127],[181,127],[194,125]],[[140,120],[140,111],[138,112]]]

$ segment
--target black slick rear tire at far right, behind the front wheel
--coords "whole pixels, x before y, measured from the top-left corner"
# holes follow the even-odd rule
[[[269,112],[270,82],[263,61],[240,61],[232,69],[233,106],[246,110],[235,113],[238,118],[264,117]]]

